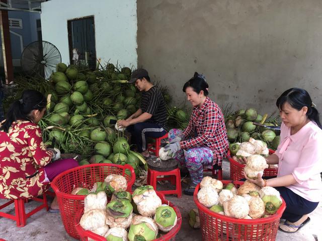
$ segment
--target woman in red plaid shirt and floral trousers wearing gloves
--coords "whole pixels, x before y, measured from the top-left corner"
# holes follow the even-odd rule
[[[188,169],[191,184],[184,191],[193,195],[203,178],[203,169],[221,165],[228,151],[225,121],[221,109],[208,95],[208,84],[203,75],[195,72],[185,83],[183,92],[193,105],[189,125],[184,130],[169,131],[168,155],[179,161],[182,169]]]

